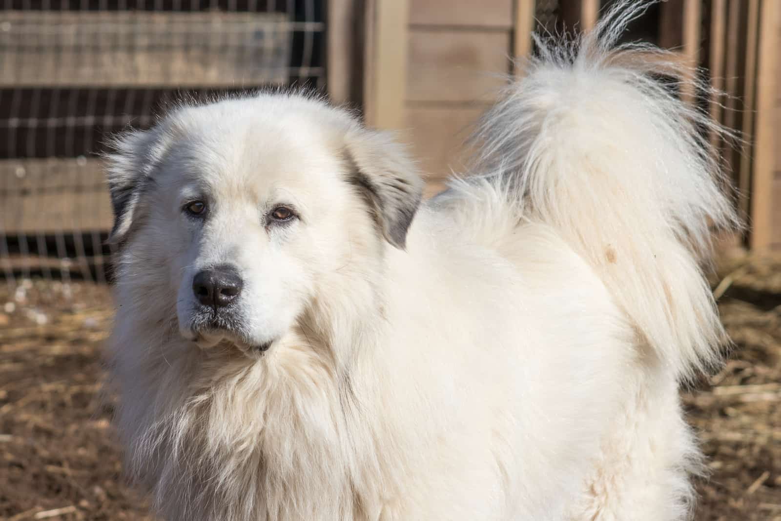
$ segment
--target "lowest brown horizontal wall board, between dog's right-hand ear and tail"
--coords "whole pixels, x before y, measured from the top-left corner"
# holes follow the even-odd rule
[[[487,108],[487,105],[407,108],[406,135],[426,179],[444,179],[451,169],[463,171],[469,154],[465,140]]]

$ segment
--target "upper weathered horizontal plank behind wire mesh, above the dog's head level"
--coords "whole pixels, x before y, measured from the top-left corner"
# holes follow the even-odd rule
[[[0,24],[0,87],[283,84],[293,29],[274,12],[3,11]]]

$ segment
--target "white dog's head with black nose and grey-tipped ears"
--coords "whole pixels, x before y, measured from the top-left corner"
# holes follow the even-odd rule
[[[119,137],[109,186],[134,312],[257,352],[405,247],[422,181],[399,144],[347,112],[260,94]]]

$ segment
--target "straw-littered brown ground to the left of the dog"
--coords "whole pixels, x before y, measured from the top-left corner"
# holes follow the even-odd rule
[[[105,287],[0,286],[0,519],[151,519],[124,486],[102,400]]]

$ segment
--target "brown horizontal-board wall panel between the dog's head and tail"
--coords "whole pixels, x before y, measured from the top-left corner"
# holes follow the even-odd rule
[[[409,0],[405,139],[421,161],[426,195],[462,171],[465,140],[530,51],[536,0]]]

